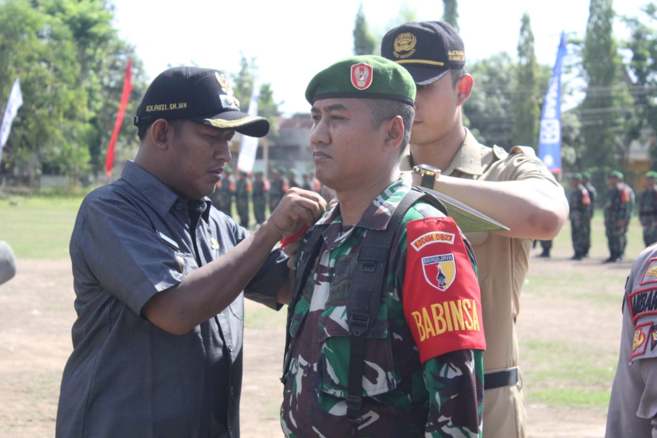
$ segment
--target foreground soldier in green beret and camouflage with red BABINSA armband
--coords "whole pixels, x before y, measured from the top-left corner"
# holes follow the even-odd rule
[[[382,294],[378,317],[364,341],[363,374],[354,376],[362,382],[360,417],[347,418],[354,267],[367,233],[385,230],[411,189],[397,160],[409,139],[414,97],[408,72],[375,56],[337,62],[307,87],[317,178],[340,203],[304,237],[323,239],[311,274],[295,278],[300,293],[288,308],[281,406],[287,437],[481,434],[485,341],[474,255],[455,222],[422,201],[396,228],[384,289],[374,291]]]

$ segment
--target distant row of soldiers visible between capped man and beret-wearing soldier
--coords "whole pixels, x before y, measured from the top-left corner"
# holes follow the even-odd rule
[[[312,173],[302,174],[301,182],[298,178],[298,170],[294,168],[287,170],[281,166],[271,171],[271,180],[264,178],[262,170],[256,170],[253,178],[248,172],[238,170],[235,180],[233,170],[227,165],[210,199],[212,205],[229,216],[233,214],[233,202],[235,202],[240,226],[244,228],[249,226],[249,206],[253,205],[253,215],[258,226],[265,221],[267,206],[270,212],[273,211],[290,187],[320,191],[321,185]]]

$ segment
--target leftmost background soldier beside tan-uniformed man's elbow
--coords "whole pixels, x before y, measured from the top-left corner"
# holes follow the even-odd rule
[[[570,235],[573,241],[575,255],[571,260],[581,260],[589,251],[590,238],[587,239],[587,230],[591,231],[591,198],[589,191],[581,183],[581,174],[574,174],[571,180],[570,199]]]

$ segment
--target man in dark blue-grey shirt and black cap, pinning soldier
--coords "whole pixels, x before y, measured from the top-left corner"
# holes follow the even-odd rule
[[[78,319],[57,437],[238,437],[243,297],[287,302],[272,249],[325,203],[290,191],[254,233],[211,207],[235,131],[269,130],[217,70],[160,74],[135,125],[137,157],[85,197],[70,241]]]

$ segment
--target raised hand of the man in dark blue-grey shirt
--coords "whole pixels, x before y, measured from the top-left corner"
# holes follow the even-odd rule
[[[279,239],[283,239],[317,222],[326,210],[327,203],[318,193],[292,187],[263,226],[273,228],[279,233]]]

